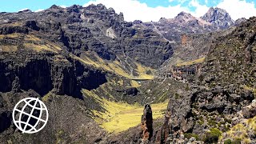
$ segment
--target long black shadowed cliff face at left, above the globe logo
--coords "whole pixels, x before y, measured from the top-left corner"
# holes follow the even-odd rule
[[[54,62],[46,55],[26,58],[22,64],[16,58],[0,59],[0,92],[31,89],[44,96],[53,90],[55,94],[82,98],[82,88],[92,90],[106,82],[106,74],[70,58],[64,62]]]

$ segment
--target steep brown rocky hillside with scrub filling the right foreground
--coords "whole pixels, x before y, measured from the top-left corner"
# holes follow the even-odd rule
[[[188,142],[185,138],[191,137],[206,143],[256,141],[255,22],[250,18],[213,42],[196,72],[198,82],[170,98],[158,133],[162,142]]]

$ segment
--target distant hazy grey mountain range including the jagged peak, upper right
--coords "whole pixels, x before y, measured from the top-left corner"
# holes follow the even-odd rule
[[[144,26],[158,31],[170,42],[176,42],[181,34],[202,34],[216,30],[225,30],[230,26],[245,22],[246,18],[240,18],[236,22],[226,10],[220,8],[210,9],[200,18],[192,14],[181,12],[175,18],[160,18],[158,22],[144,22]],[[138,21],[134,22],[138,24]]]

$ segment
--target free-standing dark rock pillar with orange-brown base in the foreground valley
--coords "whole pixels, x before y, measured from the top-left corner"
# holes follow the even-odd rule
[[[150,141],[153,135],[153,117],[152,110],[149,104],[146,104],[142,115],[142,140],[144,142]]]

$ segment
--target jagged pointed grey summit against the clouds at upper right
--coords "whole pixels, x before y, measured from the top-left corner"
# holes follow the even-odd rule
[[[206,22],[210,22],[218,29],[226,29],[227,27],[234,25],[234,20],[230,17],[230,14],[228,14],[226,10],[218,7],[210,7],[207,13],[201,18]]]

